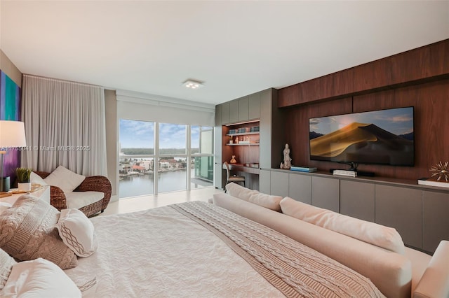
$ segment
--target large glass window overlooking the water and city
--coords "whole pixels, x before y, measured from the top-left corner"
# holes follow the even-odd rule
[[[121,119],[119,158],[119,198],[212,186],[213,127]]]

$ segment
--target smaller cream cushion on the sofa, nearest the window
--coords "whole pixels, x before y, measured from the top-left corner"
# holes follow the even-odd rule
[[[257,190],[249,190],[248,188],[233,182],[226,185],[226,190],[232,197],[243,199],[274,211],[281,211],[279,202],[282,197],[262,194],[261,192],[257,192]]]

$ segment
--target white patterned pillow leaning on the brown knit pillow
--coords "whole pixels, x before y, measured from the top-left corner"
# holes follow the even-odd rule
[[[62,241],[75,255],[88,257],[97,250],[97,236],[93,223],[78,209],[61,210],[56,227]]]

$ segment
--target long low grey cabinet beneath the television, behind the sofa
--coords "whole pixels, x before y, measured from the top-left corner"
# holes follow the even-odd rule
[[[444,187],[268,168],[260,169],[259,178],[260,192],[394,227],[406,246],[427,253],[449,239],[449,189]]]

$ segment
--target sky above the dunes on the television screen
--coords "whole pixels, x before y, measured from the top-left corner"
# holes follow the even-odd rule
[[[310,132],[329,134],[352,122],[374,124],[396,135],[413,132],[413,107],[309,119]]]

